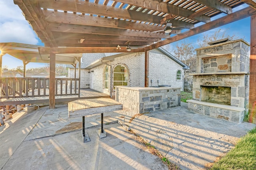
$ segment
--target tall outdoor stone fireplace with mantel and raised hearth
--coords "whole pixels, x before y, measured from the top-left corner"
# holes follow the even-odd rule
[[[193,100],[188,109],[203,115],[241,123],[248,112],[249,44],[229,39],[196,49]]]

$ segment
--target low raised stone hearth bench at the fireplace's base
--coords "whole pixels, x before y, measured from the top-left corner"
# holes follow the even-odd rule
[[[234,107],[228,105],[220,105],[216,103],[208,103],[197,100],[187,100],[188,109],[190,111],[215,117],[218,119],[224,119],[226,121],[234,123],[242,123],[244,120],[244,108]]]

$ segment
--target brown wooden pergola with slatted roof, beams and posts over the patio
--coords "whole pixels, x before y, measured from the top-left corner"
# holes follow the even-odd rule
[[[119,45],[130,52],[145,52],[145,86],[149,50],[251,16],[250,84],[256,81],[256,2],[252,0],[14,0],[14,3],[46,46],[39,48],[39,53],[50,53],[50,77],[54,77],[58,53],[123,52]],[[232,8],[244,3],[249,7],[232,12]],[[225,16],[211,20],[222,13]],[[199,22],[203,24],[195,27]],[[180,28],[187,30],[181,32]],[[166,30],[175,35],[165,34]],[[256,87],[251,85],[250,108],[254,112],[255,105]],[[54,96],[50,96],[50,108],[54,108]]]

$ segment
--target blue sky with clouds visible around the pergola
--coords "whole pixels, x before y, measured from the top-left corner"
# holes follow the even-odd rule
[[[0,42],[18,42],[44,45],[36,36],[25,17],[22,15],[22,11],[17,5],[14,4],[13,0],[0,0],[0,7]],[[245,7],[247,7],[246,4],[234,8],[233,12]],[[220,16],[214,17],[212,20],[219,17]],[[250,17],[213,30],[209,30],[208,32],[198,34],[190,38],[186,38],[185,41],[188,43],[193,43],[195,47],[197,47],[198,36],[202,37],[204,34],[214,33],[218,29],[229,29],[229,35],[236,34],[238,37],[244,38],[245,41],[250,43]],[[175,47],[176,43],[180,42],[174,42],[170,44],[170,46]],[[23,66],[23,63],[21,60],[6,54],[3,56],[2,60],[2,66],[4,65],[7,65],[9,69],[12,69],[20,65]],[[26,65],[26,69],[32,67],[43,67],[44,65],[45,63],[28,63]]]

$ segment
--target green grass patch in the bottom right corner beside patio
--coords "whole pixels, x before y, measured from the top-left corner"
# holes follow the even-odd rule
[[[250,130],[211,170],[256,170],[256,128]]]

